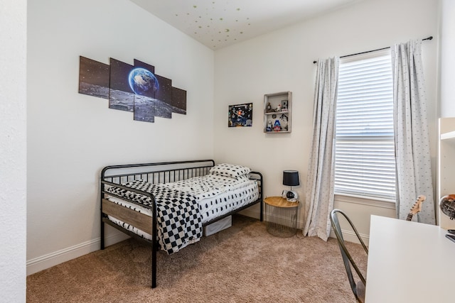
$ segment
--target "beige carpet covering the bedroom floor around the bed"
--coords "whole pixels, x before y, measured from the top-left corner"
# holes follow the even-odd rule
[[[28,276],[27,302],[355,302],[335,239],[277,238],[244,216],[157,264],[151,289],[151,248],[123,241]]]

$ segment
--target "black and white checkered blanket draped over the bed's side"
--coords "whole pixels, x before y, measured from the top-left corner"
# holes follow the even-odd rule
[[[203,228],[195,196],[188,192],[164,187],[163,184],[150,184],[144,180],[135,180],[124,185],[154,194],[159,244],[168,254],[176,253],[188,244],[199,241]],[[109,187],[107,192],[139,202],[144,206],[152,205],[149,197],[118,187]]]

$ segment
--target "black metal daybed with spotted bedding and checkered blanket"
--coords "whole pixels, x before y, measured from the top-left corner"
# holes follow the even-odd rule
[[[151,287],[156,253],[176,253],[200,241],[204,228],[259,203],[262,174],[213,160],[155,162],[104,167],[100,176],[101,249],[105,224],[151,246]],[[226,224],[220,224],[220,226]],[[213,228],[212,228],[213,229]]]

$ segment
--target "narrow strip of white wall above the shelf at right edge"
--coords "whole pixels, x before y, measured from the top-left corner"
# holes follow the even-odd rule
[[[455,1],[441,0],[441,117],[455,116]]]

